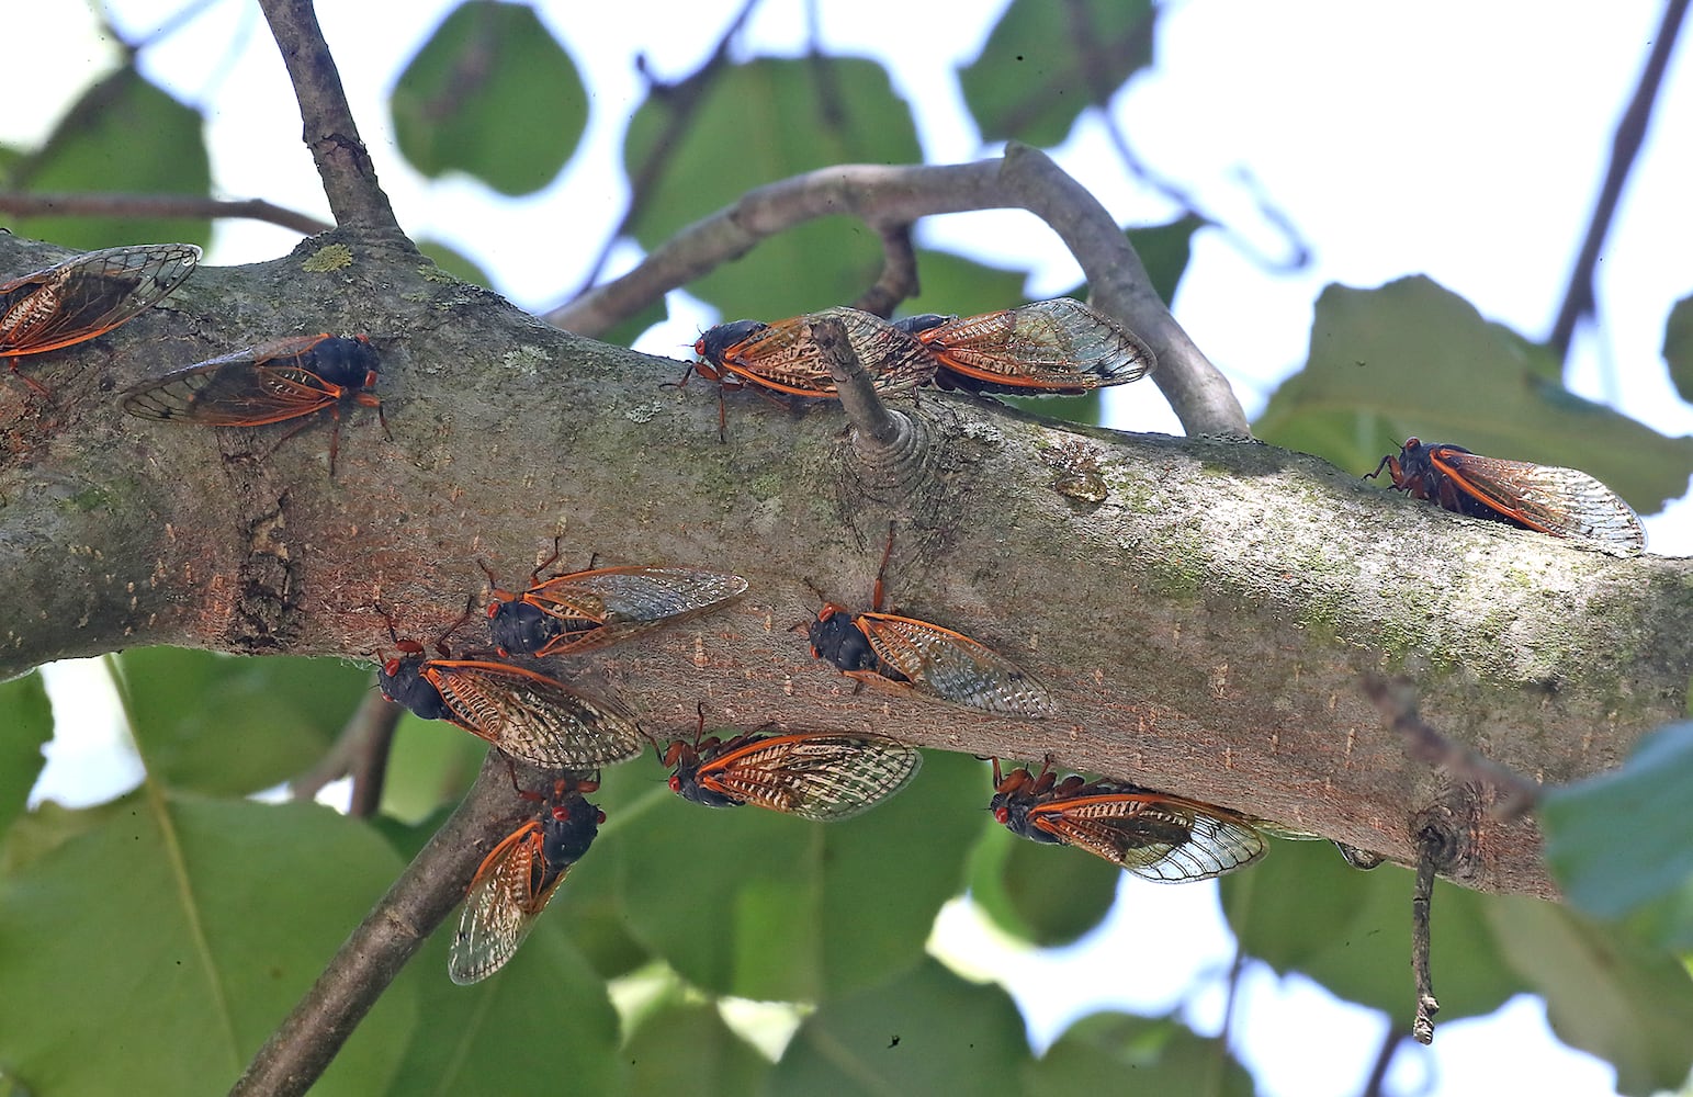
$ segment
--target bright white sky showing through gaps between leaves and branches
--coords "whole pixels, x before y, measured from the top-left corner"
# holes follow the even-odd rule
[[[186,0],[183,0],[186,3]],[[144,36],[183,3],[115,0],[119,24]],[[594,93],[587,139],[560,179],[540,195],[499,200],[476,183],[428,183],[400,163],[386,108],[405,59],[452,7],[322,0],[320,19],[342,66],[354,113],[381,181],[413,235],[444,239],[476,257],[496,286],[532,308],[557,303],[586,273],[623,213],[620,137],[642,91],[633,58],[664,78],[694,69],[728,24],[736,0],[667,5],[662,20],[623,19],[611,5],[545,3],[555,34],[584,68]],[[962,119],[953,68],[985,41],[1001,3],[916,5],[894,0],[818,0],[823,37],[835,52],[885,58],[896,86],[916,107],[931,161],[989,156]],[[742,56],[804,47],[806,5],[769,0],[742,39]],[[968,8],[968,10],[967,10]],[[1268,276],[1221,234],[1195,239],[1175,301],[1177,318],[1234,381],[1256,413],[1278,379],[1297,367],[1322,286],[1375,286],[1429,274],[1488,318],[1542,339],[1556,315],[1581,232],[1603,178],[1615,119],[1632,93],[1661,17],[1661,3],[1591,5],[1354,3],[1351,0],[1194,0],[1160,24],[1158,68],[1112,102],[1112,113],[1144,161],[1195,193],[1234,230],[1270,254],[1282,240],[1234,181],[1249,168],[1299,227],[1315,262],[1297,276]],[[662,32],[657,29],[662,25]],[[115,64],[76,3],[30,7],[7,27],[7,83],[29,88],[22,107],[0,112],[0,141],[37,139],[85,81],[68,71]],[[1683,44],[1661,91],[1647,147],[1637,161],[1598,274],[1600,330],[1578,339],[1571,386],[1666,433],[1693,432],[1693,410],[1668,384],[1659,347],[1671,305],[1693,295],[1693,64]],[[183,100],[208,108],[213,178],[225,196],[327,215],[300,117],[257,5],[213,3],[200,19],[144,54],[144,68]],[[1177,213],[1124,178],[1102,127],[1084,122],[1056,152],[1122,223]],[[1078,281],[1067,252],[1021,213],[935,218],[926,244],[1006,264],[1036,264],[1031,298]],[[220,223],[208,261],[271,259],[296,237],[279,229]],[[992,242],[992,251],[987,251]],[[620,252],[615,271],[633,262]],[[980,308],[1007,301],[982,301]],[[708,311],[672,295],[672,322],[640,347],[679,354]],[[1133,391],[1139,389],[1139,391]],[[1112,393],[1114,425],[1175,433],[1151,386]],[[1500,454],[1508,455],[1508,454]],[[1686,511],[1681,510],[1679,515]],[[1693,552],[1693,523],[1671,508],[1647,516],[1657,552]],[[1679,518],[1679,520],[1678,520]],[[129,779],[112,758],[120,736],[102,718],[74,723],[90,735],[56,741],[37,794],[100,799]],[[110,787],[91,784],[103,774]],[[1409,912],[1407,912],[1409,914]],[[1439,914],[1436,914],[1439,916]],[[1182,926],[1170,948],[1131,950],[1126,933]],[[1126,879],[1111,924],[1077,948],[1017,955],[994,943],[967,911],[948,911],[943,934],[992,968],[1024,1001],[1045,1043],[1077,1012],[1121,1004],[1168,1009],[1190,985],[1207,985],[1192,1009],[1200,1031],[1221,1023],[1221,973],[1233,943],[1214,885],[1156,887]],[[1168,938],[1163,938],[1168,940]],[[1099,977],[1099,972],[1121,977]],[[1065,987],[1055,995],[1051,987]],[[1097,1002],[1078,987],[1106,992]],[[1439,956],[1436,956],[1439,989]],[[1407,995],[1410,980],[1407,973]],[[1260,1090],[1300,1097],[1356,1094],[1385,1023],[1341,1006],[1302,978],[1249,970],[1236,1024],[1238,1051]],[[1603,1063],[1563,1050],[1539,1002],[1522,999],[1495,1017],[1446,1023],[1432,1051],[1402,1053],[1392,1092],[1498,1094],[1612,1092]],[[1422,1089],[1427,1085],[1429,1089]]]

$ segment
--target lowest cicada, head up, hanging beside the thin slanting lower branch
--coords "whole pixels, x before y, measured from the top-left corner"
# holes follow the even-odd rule
[[[596,779],[562,777],[547,799],[540,819],[516,828],[483,858],[459,914],[452,936],[447,975],[459,985],[481,982],[505,967],[535,928],[571,867],[594,843],[606,813],[582,794],[599,787]]]

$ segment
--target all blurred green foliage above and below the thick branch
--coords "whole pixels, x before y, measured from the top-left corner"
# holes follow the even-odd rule
[[[1084,110],[1151,64],[1156,8],[1144,0],[1053,12],[1014,0],[962,69],[985,139],[1058,144]],[[564,46],[527,5],[486,0],[433,30],[391,107],[401,152],[420,171],[467,173],[501,193],[552,183],[587,122]],[[642,198],[628,232],[653,249],[757,186],[840,163],[918,161],[921,149],[879,61],[818,54],[755,58],[655,88],[623,156]],[[41,149],[0,149],[0,181],[205,195],[207,164],[200,113],[130,64],[90,88]],[[1166,301],[1200,227],[1188,215],[1128,230]],[[205,222],[90,218],[17,230],[78,247],[208,235]],[[472,257],[438,244],[425,254],[488,283]],[[758,244],[689,289],[726,318],[780,318],[855,300],[880,267],[874,232],[830,218]],[[1026,281],[1026,271],[926,249],[919,276],[923,293],[902,311],[1004,308],[1023,300]],[[613,337],[633,340],[662,308]],[[1683,393],[1693,388],[1690,315],[1685,301],[1664,344]],[[1092,400],[1033,406],[1097,416]],[[1453,440],[1583,467],[1647,511],[1678,496],[1693,469],[1693,442],[1576,400],[1542,347],[1427,279],[1331,288],[1310,361],[1273,396],[1258,433],[1359,472],[1410,433]],[[484,747],[406,716],[384,818],[257,804],[242,797],[322,757],[369,691],[369,669],[178,650],[129,652],[119,665],[146,784],[88,809],[25,811],[49,716],[39,679],[0,687],[0,1087],[220,1092],[440,823]],[[1574,901],[1681,948],[1693,909],[1693,843],[1673,814],[1685,765],[1666,738],[1613,782],[1558,792],[1547,808],[1552,863]],[[505,1094],[542,1078],[591,1094],[1249,1092],[1224,1046],[1168,1017],[1085,1017],[1036,1060],[1002,990],[924,953],[935,912],[965,885],[1001,929],[1051,945],[1097,926],[1121,880],[1084,853],[997,828],[987,794],[980,763],[931,753],[913,789],[824,826],[755,808],[711,813],[676,799],[647,760],[618,767],[594,794],[608,814],[594,853],[513,962],[454,987],[449,934],[435,934],[313,1092]],[[1248,955],[1398,1021],[1412,1006],[1409,896],[1407,872],[1359,874],[1321,843],[1278,843],[1222,882]],[[650,972],[662,994],[630,1006],[628,985]],[[1564,1039],[1617,1063],[1627,1092],[1686,1077],[1686,972],[1622,931],[1442,884],[1434,977],[1442,1021],[1527,989],[1546,995]],[[725,995],[801,1004],[777,1063],[725,1024]]]

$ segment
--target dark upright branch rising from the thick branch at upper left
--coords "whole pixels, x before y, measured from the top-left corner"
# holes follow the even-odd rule
[[[371,152],[359,141],[340,73],[310,0],[259,0],[259,7],[288,66],[305,124],[303,141],[317,161],[335,223],[403,235],[388,195],[376,183]]]

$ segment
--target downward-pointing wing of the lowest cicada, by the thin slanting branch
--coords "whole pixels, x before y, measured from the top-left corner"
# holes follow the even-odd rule
[[[547,863],[538,823],[525,823],[494,846],[464,896],[447,956],[452,982],[481,982],[505,967],[567,872],[569,865],[555,872]]]

